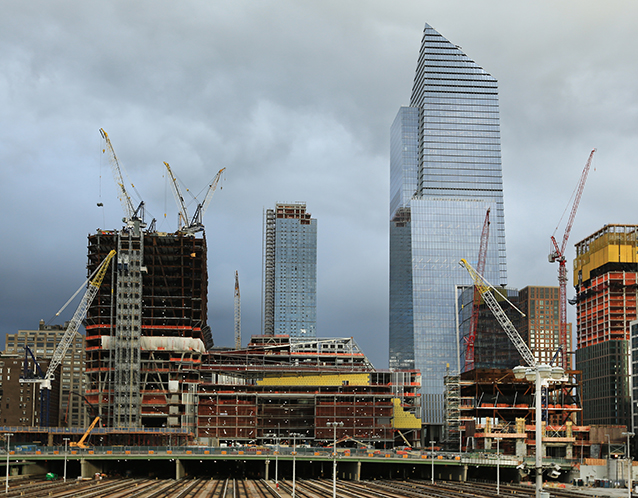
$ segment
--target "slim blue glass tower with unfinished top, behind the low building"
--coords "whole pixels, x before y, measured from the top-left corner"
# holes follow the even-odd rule
[[[264,335],[316,337],[317,220],[280,203],[264,225]]]

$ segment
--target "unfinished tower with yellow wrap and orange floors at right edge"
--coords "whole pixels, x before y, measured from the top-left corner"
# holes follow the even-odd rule
[[[638,225],[606,225],[576,244],[576,368],[586,423],[631,427],[630,323],[636,319]]]

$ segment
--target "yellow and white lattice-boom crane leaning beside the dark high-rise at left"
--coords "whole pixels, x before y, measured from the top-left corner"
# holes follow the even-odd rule
[[[98,269],[95,271],[93,280],[89,281],[86,292],[84,293],[84,296],[82,297],[78,308],[75,310],[73,318],[69,322],[69,325],[67,326],[66,331],[62,336],[62,339],[53,352],[53,356],[51,357],[51,361],[49,362],[46,373],[42,375],[42,370],[36,362],[37,371],[40,375],[26,375],[27,368],[25,367],[25,375],[20,378],[21,383],[27,382],[40,384],[40,422],[41,424],[44,424],[43,427],[49,426],[49,399],[51,394],[51,381],[53,381],[53,379],[55,378],[55,371],[62,363],[62,360],[64,359],[69,346],[73,342],[73,338],[76,332],[80,328],[80,325],[82,324],[82,321],[86,316],[89,306],[91,306],[93,299],[95,299],[95,296],[97,295],[97,292],[102,285],[102,281],[104,280],[104,276],[106,275],[106,270],[109,266],[109,263],[113,259],[113,256],[115,256],[115,250],[109,252],[106,258],[104,258],[104,261],[102,261]],[[31,353],[31,355],[33,357],[33,353]],[[35,357],[33,357],[33,359],[35,361]]]

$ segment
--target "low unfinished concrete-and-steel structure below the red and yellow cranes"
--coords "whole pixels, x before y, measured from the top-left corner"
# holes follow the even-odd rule
[[[578,372],[543,389],[543,448],[546,456],[589,457],[590,427],[582,424]],[[505,454],[535,455],[535,386],[511,370],[476,369],[446,377],[447,414],[456,442],[467,451],[491,451],[501,439]]]

